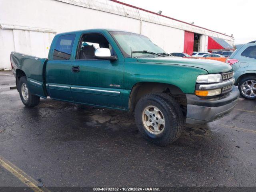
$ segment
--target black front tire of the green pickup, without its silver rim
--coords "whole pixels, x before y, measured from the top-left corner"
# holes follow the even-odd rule
[[[155,106],[164,116],[165,125],[160,134],[152,134],[143,124],[142,113],[147,106]],[[151,93],[138,100],[135,107],[135,121],[142,136],[159,146],[166,146],[177,140],[183,130],[183,114],[179,104],[165,93]]]

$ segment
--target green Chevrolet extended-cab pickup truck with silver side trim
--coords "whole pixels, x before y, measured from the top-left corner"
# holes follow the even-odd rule
[[[134,112],[144,138],[174,142],[183,124],[228,114],[238,101],[230,65],[172,57],[146,36],[93,29],[57,34],[48,58],[11,53],[25,106],[41,98]]]

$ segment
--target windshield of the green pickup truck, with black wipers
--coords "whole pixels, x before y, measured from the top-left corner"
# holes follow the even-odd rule
[[[150,54],[148,52],[165,52],[162,48],[155,45],[148,37],[140,34],[120,31],[111,31],[110,34],[116,40],[118,46],[120,47],[125,57],[131,56],[131,48],[133,52],[132,56],[135,57],[159,57],[159,55],[157,54]],[[144,50],[147,52],[143,52]]]

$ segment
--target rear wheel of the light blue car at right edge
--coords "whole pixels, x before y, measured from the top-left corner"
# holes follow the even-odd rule
[[[256,77],[250,76],[243,78],[239,84],[238,89],[240,95],[246,99],[255,99],[256,98]]]

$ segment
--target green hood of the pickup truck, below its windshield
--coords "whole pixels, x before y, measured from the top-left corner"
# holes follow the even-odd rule
[[[155,57],[155,58],[137,58],[140,63],[172,64],[196,67],[211,73],[222,73],[232,70],[229,64],[210,59],[192,59],[179,57]]]

